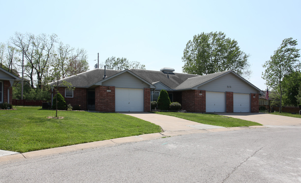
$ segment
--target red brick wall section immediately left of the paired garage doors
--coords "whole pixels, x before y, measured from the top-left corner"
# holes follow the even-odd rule
[[[206,91],[205,90],[183,91],[182,92],[182,109],[187,110],[187,112],[205,113],[206,112]]]

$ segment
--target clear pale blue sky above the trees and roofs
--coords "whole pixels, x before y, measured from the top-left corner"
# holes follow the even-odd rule
[[[183,50],[198,33],[222,31],[250,54],[250,82],[266,88],[262,64],[283,39],[300,39],[301,1],[2,1],[0,42],[20,33],[56,33],[85,48],[90,69],[126,57],[147,70],[182,73]]]

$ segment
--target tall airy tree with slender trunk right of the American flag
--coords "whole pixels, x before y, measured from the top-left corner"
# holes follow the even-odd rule
[[[270,88],[277,90],[279,95],[279,113],[281,113],[282,98],[284,92],[284,77],[300,70],[299,50],[296,48],[297,40],[293,38],[284,39],[280,47],[274,51],[274,55],[262,66],[265,68],[262,72],[262,79]]]

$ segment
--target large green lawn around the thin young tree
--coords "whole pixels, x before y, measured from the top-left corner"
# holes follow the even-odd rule
[[[0,110],[0,149],[20,153],[93,141],[161,132],[161,127],[119,113],[58,111],[15,107]]]

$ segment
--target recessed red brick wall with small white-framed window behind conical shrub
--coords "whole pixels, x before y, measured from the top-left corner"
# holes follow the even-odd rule
[[[86,88],[75,88],[73,90],[73,97],[65,97],[65,88],[58,88],[60,94],[64,97],[66,101],[66,106],[71,104],[72,107],[80,105],[81,110],[87,110],[87,89]],[[55,90],[53,90],[53,97],[55,95]]]

